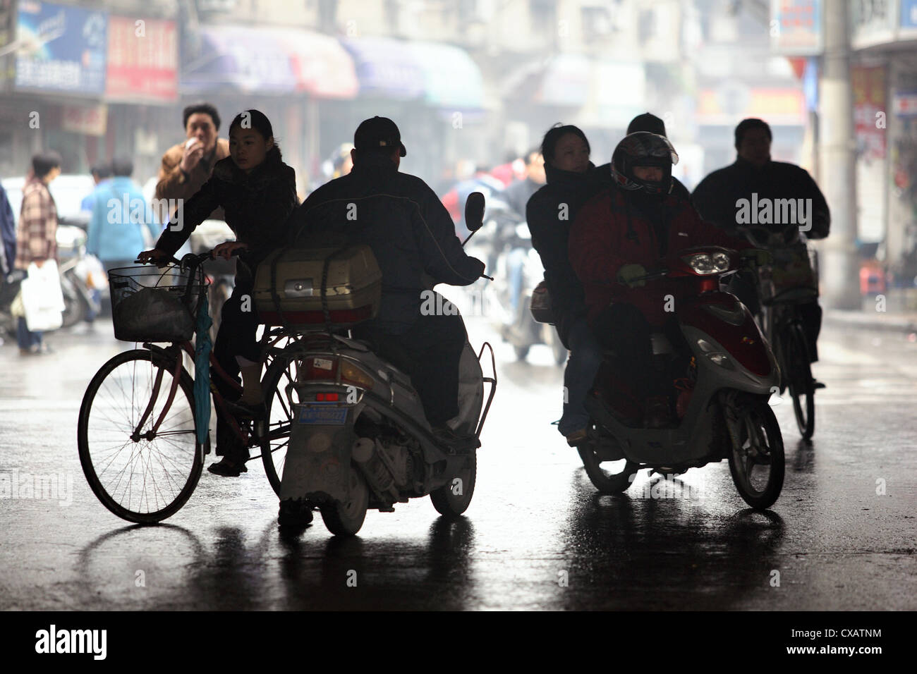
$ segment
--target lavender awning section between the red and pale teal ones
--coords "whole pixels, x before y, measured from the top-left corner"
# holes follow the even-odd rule
[[[400,100],[424,94],[425,73],[407,43],[389,38],[342,39],[353,59],[361,96]]]

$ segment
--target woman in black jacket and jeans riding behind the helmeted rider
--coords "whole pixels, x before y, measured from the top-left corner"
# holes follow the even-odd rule
[[[566,402],[558,430],[573,447],[586,438],[589,414],[583,404],[602,363],[602,348],[586,324],[585,296],[569,263],[568,239],[580,206],[611,182],[611,173],[596,170],[589,160],[589,141],[578,127],[549,128],[541,153],[547,184],[528,200],[525,219],[545,267],[558,335],[570,350],[564,371]]]

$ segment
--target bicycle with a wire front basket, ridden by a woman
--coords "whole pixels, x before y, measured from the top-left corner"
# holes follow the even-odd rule
[[[140,267],[109,273],[116,337],[141,337],[127,340],[138,341],[143,348],[117,354],[95,373],[83,395],[77,446],[83,473],[95,496],[108,510],[129,522],[153,524],[175,514],[193,493],[204,456],[210,453],[209,429],[204,440],[199,439],[200,405],[195,405],[194,382],[184,366],[185,355],[194,359],[188,317],[196,316],[203,306],[208,283],[201,264],[208,259],[209,252],[189,254],[181,262],[172,259],[171,265],[158,271]],[[144,277],[146,285],[137,281]],[[149,285],[150,280],[155,282]],[[171,311],[172,315],[166,313],[165,320],[153,326],[149,316],[155,312],[150,311],[146,317],[139,316],[140,325],[122,323],[119,335],[119,316],[123,313],[118,304],[127,297],[136,299],[143,290],[153,292],[146,297],[154,298],[154,307]],[[148,318],[148,324],[142,325]],[[142,338],[145,330],[150,332]],[[277,354],[282,350],[277,345],[288,337],[290,334],[283,328],[265,330],[262,352],[268,357]],[[169,346],[160,346],[163,342]],[[266,364],[276,386],[280,382],[279,370],[271,370],[272,362]],[[209,393],[213,395],[216,414],[223,415],[240,443],[261,448],[261,454],[247,460],[263,459],[266,469],[270,464],[269,480],[279,493],[280,480],[271,455],[285,447],[284,436],[288,440],[290,434],[289,417],[286,423],[278,420],[271,424],[270,416],[259,422],[239,422],[228,413],[214,375],[234,392],[241,393],[241,385],[220,367],[212,351],[209,365]],[[271,378],[266,377],[265,384],[270,383]],[[265,388],[265,392],[269,401],[275,397],[273,388]],[[209,398],[208,394],[207,405]]]

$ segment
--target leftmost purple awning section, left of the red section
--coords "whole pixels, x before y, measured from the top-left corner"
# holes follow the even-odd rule
[[[182,64],[182,92],[226,87],[261,94],[296,90],[290,56],[270,33],[243,26],[202,26],[198,36],[198,55]]]

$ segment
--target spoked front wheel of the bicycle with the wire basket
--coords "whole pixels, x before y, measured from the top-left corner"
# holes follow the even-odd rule
[[[96,372],[83,395],[77,426],[83,473],[99,501],[128,522],[171,517],[201,477],[205,447],[194,431],[193,381],[182,368],[170,402],[174,366],[148,349],[125,351]]]

